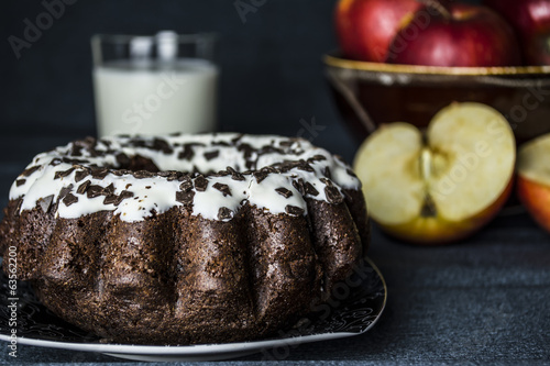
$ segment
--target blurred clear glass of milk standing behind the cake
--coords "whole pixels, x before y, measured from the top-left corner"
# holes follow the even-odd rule
[[[95,35],[98,135],[215,131],[216,45],[211,33]]]

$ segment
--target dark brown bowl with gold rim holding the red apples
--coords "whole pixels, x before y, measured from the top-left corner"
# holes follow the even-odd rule
[[[550,66],[435,67],[323,56],[336,103],[359,141],[380,124],[426,126],[453,101],[475,101],[503,113],[518,143],[550,132]]]

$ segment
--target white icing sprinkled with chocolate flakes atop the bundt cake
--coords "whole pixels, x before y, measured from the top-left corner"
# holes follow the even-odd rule
[[[169,135],[156,137],[165,142],[164,146],[167,148],[163,151],[162,148],[150,148],[154,146],[154,138],[110,136],[97,141],[94,151],[87,146],[79,148],[77,154],[73,154],[75,144],[84,144],[75,142],[52,152],[38,154],[28,166],[28,169],[35,170],[24,171],[20,175],[11,187],[10,199],[22,198],[21,211],[23,211],[35,208],[42,199],[53,196],[53,202],[58,202],[55,212],[57,217],[74,219],[108,210],[113,211],[113,214],[120,214],[121,220],[129,222],[141,221],[151,215],[153,211],[162,213],[172,207],[184,204],[176,198],[176,192],[182,190],[182,181],[178,179],[169,179],[158,175],[136,178],[129,171],[113,170],[119,167],[116,157],[119,153],[124,153],[129,157],[140,155],[150,158],[161,170],[193,171],[198,169],[206,174],[205,177],[208,180],[206,190],[197,190],[196,186],[191,188],[194,192],[191,209],[193,214],[202,215],[210,220],[229,221],[246,202],[274,214],[296,214],[300,210],[306,214],[306,201],[293,181],[304,179],[318,192],[311,195],[306,191],[305,197],[329,201],[324,190],[327,167],[330,170],[330,184],[338,189],[340,195],[342,195],[342,189],[360,189],[361,187],[358,178],[349,173],[348,165],[327,151],[304,140],[234,133]],[[186,144],[200,144],[191,147],[193,158],[189,156],[180,157],[180,154],[185,155],[186,148],[189,149]],[[244,148],[245,145],[252,149]],[[249,156],[246,156],[246,152]],[[212,154],[209,156],[209,153]],[[62,162],[63,158],[78,159],[79,163],[75,165],[75,162],[72,160]],[[226,170],[228,166],[237,171],[245,171],[250,168],[257,171],[263,167],[276,166],[287,160],[308,160],[309,169],[314,171],[295,166],[282,171],[268,173],[260,184],[257,176],[252,173],[243,174],[243,180],[232,178],[229,173],[226,175],[208,174],[209,171]],[[81,174],[86,169],[85,167],[92,165],[109,167],[111,170],[106,173],[103,177],[87,175],[77,181],[77,173]],[[74,170],[69,174],[62,174],[62,177],[55,178],[56,174],[59,175],[59,173],[72,168]],[[196,179],[195,176],[193,181]],[[89,186],[99,186],[103,189],[112,185],[110,195],[120,196],[125,191],[125,195],[131,193],[132,197],[124,197],[117,204],[112,202],[113,200],[105,202],[108,193],[88,197],[87,191],[78,191],[78,187],[88,180]],[[223,190],[217,189],[217,184],[227,185],[231,193],[228,195]],[[277,188],[284,188],[292,195],[287,191],[282,195],[276,191]],[[62,192],[72,195],[72,201],[68,204],[64,200],[65,196],[62,197]],[[289,212],[288,206],[293,207],[294,213]],[[226,214],[220,219],[221,208],[231,210],[231,215]]]

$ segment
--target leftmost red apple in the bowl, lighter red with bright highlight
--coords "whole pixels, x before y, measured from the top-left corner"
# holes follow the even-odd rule
[[[382,63],[405,18],[421,7],[416,0],[340,0],[334,11],[338,42],[345,57]]]

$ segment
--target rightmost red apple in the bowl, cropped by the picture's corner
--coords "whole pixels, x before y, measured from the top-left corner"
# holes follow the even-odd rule
[[[550,65],[550,0],[485,0],[515,27],[529,65]]]

